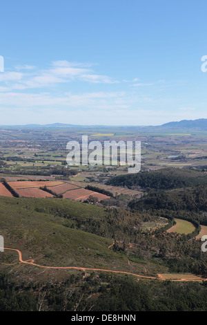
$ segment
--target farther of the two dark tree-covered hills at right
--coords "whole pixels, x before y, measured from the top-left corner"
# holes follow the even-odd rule
[[[106,183],[113,186],[142,187],[144,189],[177,189],[207,184],[206,174],[188,169],[159,169],[137,174],[119,175]]]

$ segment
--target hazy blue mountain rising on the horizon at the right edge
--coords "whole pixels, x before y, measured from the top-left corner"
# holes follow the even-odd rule
[[[207,119],[206,118],[199,118],[198,120],[181,120],[179,122],[169,122],[166,124],[162,124],[161,127],[168,127],[168,128],[186,128],[186,129],[207,129]]]

